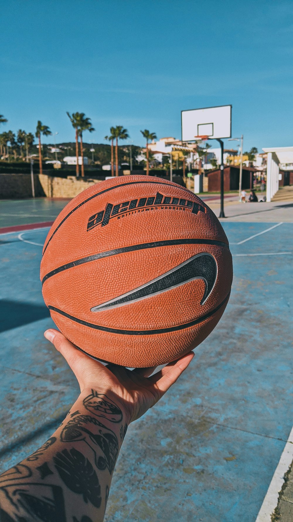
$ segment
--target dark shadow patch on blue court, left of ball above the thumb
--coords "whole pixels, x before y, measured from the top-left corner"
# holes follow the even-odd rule
[[[50,317],[46,306],[19,301],[0,301],[0,332]]]

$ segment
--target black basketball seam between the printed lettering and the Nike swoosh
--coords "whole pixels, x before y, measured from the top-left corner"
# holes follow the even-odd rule
[[[55,268],[48,272],[42,279],[42,285],[44,282],[52,276],[63,272],[64,270],[68,270],[69,268],[73,268],[75,266],[83,265],[84,263],[90,263],[97,259],[103,259],[105,257],[110,257],[118,254],[125,254],[127,252],[133,252],[137,250],[144,250],[145,248],[155,248],[160,246],[175,246],[175,245],[214,245],[214,246],[222,246],[224,248],[228,248],[229,245],[224,243],[223,241],[210,240],[210,239],[170,239],[170,240],[162,240],[162,241],[153,241],[152,243],[142,243],[138,245],[124,246],[120,248],[113,248],[113,250],[108,250],[107,252],[101,252],[99,254],[92,254],[90,256],[82,257],[75,261],[71,261],[70,263],[66,263],[62,266]]]

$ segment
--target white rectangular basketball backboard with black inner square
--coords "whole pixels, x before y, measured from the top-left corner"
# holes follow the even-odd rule
[[[181,111],[182,141],[194,141],[194,136],[230,138],[231,110],[232,105],[221,105]]]

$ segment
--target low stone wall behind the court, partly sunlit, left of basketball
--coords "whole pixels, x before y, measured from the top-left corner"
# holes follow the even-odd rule
[[[73,198],[84,189],[99,183],[101,180],[76,179],[34,174],[35,197]],[[0,199],[32,197],[30,174],[0,174]]]

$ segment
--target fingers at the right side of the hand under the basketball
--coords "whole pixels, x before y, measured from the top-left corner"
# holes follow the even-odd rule
[[[178,377],[180,377],[181,373],[186,370],[193,357],[194,353],[189,352],[178,359],[178,361],[168,364],[160,372],[157,372],[149,378],[149,381],[153,383],[161,396],[167,392],[172,384],[176,383]]]

